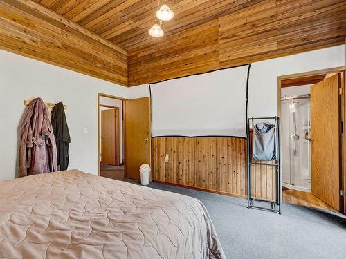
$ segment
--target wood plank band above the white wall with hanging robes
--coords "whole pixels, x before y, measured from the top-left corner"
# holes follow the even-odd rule
[[[127,51],[34,1],[0,0],[0,48],[127,86]]]

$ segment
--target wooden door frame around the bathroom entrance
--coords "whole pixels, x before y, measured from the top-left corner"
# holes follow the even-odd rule
[[[345,86],[346,86],[346,66],[339,66],[336,68],[327,68],[321,70],[313,70],[303,73],[295,73],[290,75],[280,75],[277,77],[277,115],[281,117],[281,88],[282,80],[284,79],[300,79],[302,77],[308,77],[313,75],[323,75],[330,73],[341,73],[341,88],[343,89],[343,94],[341,95],[341,124],[345,122],[346,119],[346,95],[345,95]],[[345,124],[345,123],[344,123]],[[281,125],[280,125],[281,126]],[[343,126],[345,127],[345,126]],[[346,214],[346,169],[345,169],[345,159],[346,159],[346,134],[343,133],[341,144],[341,175],[340,175],[340,189],[343,189],[343,197],[340,197],[340,212]],[[282,143],[282,135],[280,135],[280,144]],[[281,145],[280,145],[281,146]],[[281,160],[282,161],[282,160]],[[282,179],[282,178],[281,178]],[[282,185],[282,183],[281,183]],[[280,190],[282,192],[282,189]],[[282,197],[282,195],[281,195]]]

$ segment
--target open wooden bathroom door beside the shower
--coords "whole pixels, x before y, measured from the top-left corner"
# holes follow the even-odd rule
[[[311,191],[340,210],[340,75],[311,86]]]

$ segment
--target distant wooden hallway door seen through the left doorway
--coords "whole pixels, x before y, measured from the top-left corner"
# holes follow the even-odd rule
[[[101,163],[116,165],[116,109],[101,111]]]

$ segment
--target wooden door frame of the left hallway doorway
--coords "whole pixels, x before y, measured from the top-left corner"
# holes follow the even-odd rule
[[[119,108],[116,106],[109,106],[109,105],[105,105],[105,104],[100,104],[100,97],[107,97],[110,99],[118,99],[120,101],[122,101],[122,122],[124,122],[124,101],[126,101],[126,98],[122,98],[122,97],[118,97],[115,95],[108,95],[106,93],[99,93],[98,92],[98,175],[100,175],[100,107],[109,107],[109,108],[116,108],[116,123],[118,124],[118,126],[116,127],[116,164],[118,164],[119,161],[119,157],[120,157],[120,114],[119,114]],[[125,124],[122,123],[122,128],[123,131],[125,129]],[[123,146],[125,146],[125,137],[124,137],[124,133],[122,132],[122,143]],[[117,141],[118,140],[118,141]],[[124,160],[124,164],[125,164],[125,152],[122,152],[122,159]],[[121,164],[121,163],[119,163]]]

